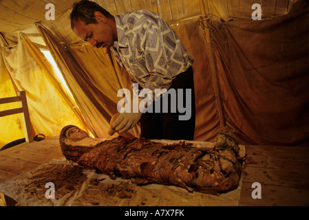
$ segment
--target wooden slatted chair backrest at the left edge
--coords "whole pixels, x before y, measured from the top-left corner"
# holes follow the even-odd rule
[[[0,117],[21,113],[21,119],[23,121],[23,131],[25,132],[25,141],[33,142],[32,126],[30,123],[29,109],[27,104],[27,98],[25,96],[25,91],[19,91],[18,96],[0,98],[0,104],[10,102],[19,102],[20,107],[16,109],[0,111]]]

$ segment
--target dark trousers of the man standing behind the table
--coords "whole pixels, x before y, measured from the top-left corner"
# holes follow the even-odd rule
[[[141,137],[145,137],[147,139],[167,139],[167,140],[193,140],[194,129],[195,129],[195,95],[194,95],[194,83],[193,83],[193,70],[192,67],[189,67],[186,72],[179,74],[176,76],[172,85],[169,89],[175,89],[175,96],[168,98],[168,102],[163,103],[163,98],[160,100],[153,102],[151,104],[151,108],[153,108],[153,113],[143,113],[140,119],[140,129],[141,129]],[[184,109],[187,109],[187,113],[189,110],[191,111],[191,117],[189,120],[180,120],[179,115],[185,115],[186,113],[180,113],[178,108],[178,96],[180,96],[180,90],[183,89],[183,102],[182,106]],[[186,102],[186,89],[190,89],[191,91],[191,107],[187,107]],[[166,96],[166,95],[165,95]],[[173,99],[173,101],[171,101]],[[160,101],[160,112],[155,112],[155,106]],[[163,113],[162,108],[166,107],[168,104],[169,111],[167,113]],[[171,104],[175,106],[171,106]],[[172,113],[172,108],[176,109],[176,113]],[[183,111],[183,110],[182,110]]]

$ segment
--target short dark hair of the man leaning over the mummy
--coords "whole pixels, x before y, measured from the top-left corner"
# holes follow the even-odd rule
[[[97,23],[94,19],[94,12],[101,12],[105,17],[112,18],[113,16],[104,8],[93,1],[82,0],[74,3],[73,10],[70,14],[71,28],[74,28],[73,21],[81,19],[86,25],[89,23]]]

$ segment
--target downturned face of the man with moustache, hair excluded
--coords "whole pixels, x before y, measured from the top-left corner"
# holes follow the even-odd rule
[[[85,22],[78,19],[74,20],[74,33],[85,41],[89,41],[92,47],[111,47],[116,40],[116,34],[110,23],[106,21],[106,18],[96,18],[98,23],[90,23],[88,25]]]

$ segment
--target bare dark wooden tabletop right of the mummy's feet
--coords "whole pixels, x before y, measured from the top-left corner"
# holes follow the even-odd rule
[[[308,206],[309,146],[246,146],[239,206]],[[250,161],[251,160],[251,161]],[[262,199],[253,199],[254,182]]]

